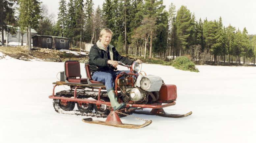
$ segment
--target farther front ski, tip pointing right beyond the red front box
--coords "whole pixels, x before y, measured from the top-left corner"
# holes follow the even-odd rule
[[[162,116],[162,117],[170,117],[170,118],[181,118],[185,116],[189,116],[192,114],[192,111],[186,113],[186,114],[168,114],[165,113],[162,108],[160,109],[152,109],[151,112],[147,111],[135,111],[135,114],[145,114],[145,115],[156,115],[156,116]]]

